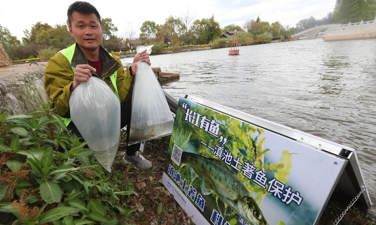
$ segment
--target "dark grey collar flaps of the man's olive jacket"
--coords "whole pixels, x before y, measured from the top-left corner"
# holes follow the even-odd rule
[[[99,55],[102,62],[102,77],[100,78],[103,80],[114,74],[121,65],[102,46],[99,46]],[[74,49],[74,54],[70,66],[76,68],[77,65],[82,64],[89,65],[88,60],[86,60],[85,55],[81,51],[79,45],[76,43],[76,48]],[[99,78],[98,75],[94,75]]]

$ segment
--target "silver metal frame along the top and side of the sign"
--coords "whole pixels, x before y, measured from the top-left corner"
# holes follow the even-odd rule
[[[347,160],[346,167],[344,171],[342,172],[341,176],[337,178],[335,185],[333,186],[330,192],[330,195],[325,201],[324,206],[326,206],[335,188],[342,190],[343,192],[351,196],[355,196],[358,192],[361,191],[361,187],[363,185],[365,186],[364,177],[363,177],[363,174],[359,165],[358,157],[356,156],[356,152],[354,148],[350,148],[348,146],[335,143],[333,141],[329,141],[329,140],[326,140],[326,139],[323,139],[314,135],[310,135],[308,133],[305,133],[296,129],[292,129],[291,127],[283,126],[281,124],[274,123],[272,121],[265,120],[263,118],[256,117],[254,115],[243,113],[241,111],[234,110],[232,108],[229,108],[220,104],[216,104],[214,102],[210,102],[210,101],[207,101],[202,98],[198,98],[193,95],[186,95],[185,99],[192,101],[192,102],[196,102],[212,110],[220,111],[221,113],[227,114],[233,118],[243,120],[247,123],[253,124],[255,126],[258,126],[262,129],[276,133],[278,135],[282,135],[286,138],[297,141],[308,147],[314,148],[316,150],[324,151],[326,153],[329,153],[337,157],[340,157],[344,160]],[[371,199],[370,199],[367,189],[359,197],[359,201],[367,205],[367,207],[372,206]],[[322,213],[323,213],[323,209],[321,210],[321,213],[318,218],[320,218]],[[318,221],[316,221],[315,224],[317,222]]]

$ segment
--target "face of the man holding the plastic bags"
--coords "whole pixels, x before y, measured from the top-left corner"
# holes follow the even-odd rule
[[[84,14],[73,11],[71,24],[69,33],[81,47],[88,50],[95,50],[99,47],[103,31],[94,13]]]

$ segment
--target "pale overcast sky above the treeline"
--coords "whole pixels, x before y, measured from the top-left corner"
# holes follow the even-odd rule
[[[74,0],[65,1],[10,1],[2,0],[0,24],[8,28],[18,39],[24,36],[23,30],[41,21],[54,25],[67,20],[68,6]],[[256,19],[270,23],[280,21],[284,26],[296,26],[299,20],[315,17],[321,19],[332,11],[335,0],[89,0],[102,18],[112,18],[118,27],[118,34],[124,33],[127,22],[133,22],[138,37],[141,24],[146,20],[163,24],[169,15],[179,16],[187,6],[195,13],[195,20],[214,15],[221,27],[235,23],[243,26],[244,21]]]

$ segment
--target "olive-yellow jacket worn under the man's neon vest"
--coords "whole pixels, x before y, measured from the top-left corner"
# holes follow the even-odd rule
[[[66,57],[69,54],[65,53],[64,55],[62,52],[73,53],[73,57],[70,60]],[[114,55],[111,56],[102,46],[99,47],[99,53],[102,61],[102,77],[100,79],[105,81],[111,90],[114,91],[115,88],[110,76],[116,72],[116,87],[119,100],[122,102],[132,100],[134,79],[130,75],[129,68],[124,70],[120,59]],[[74,80],[73,68],[80,64],[88,64],[88,61],[75,43],[50,58],[45,69],[45,90],[53,102],[52,107],[55,108],[55,113],[64,118],[70,118],[69,99],[72,93],[69,89]],[[93,76],[99,78],[96,74],[93,74]],[[128,95],[128,93],[130,94]]]

